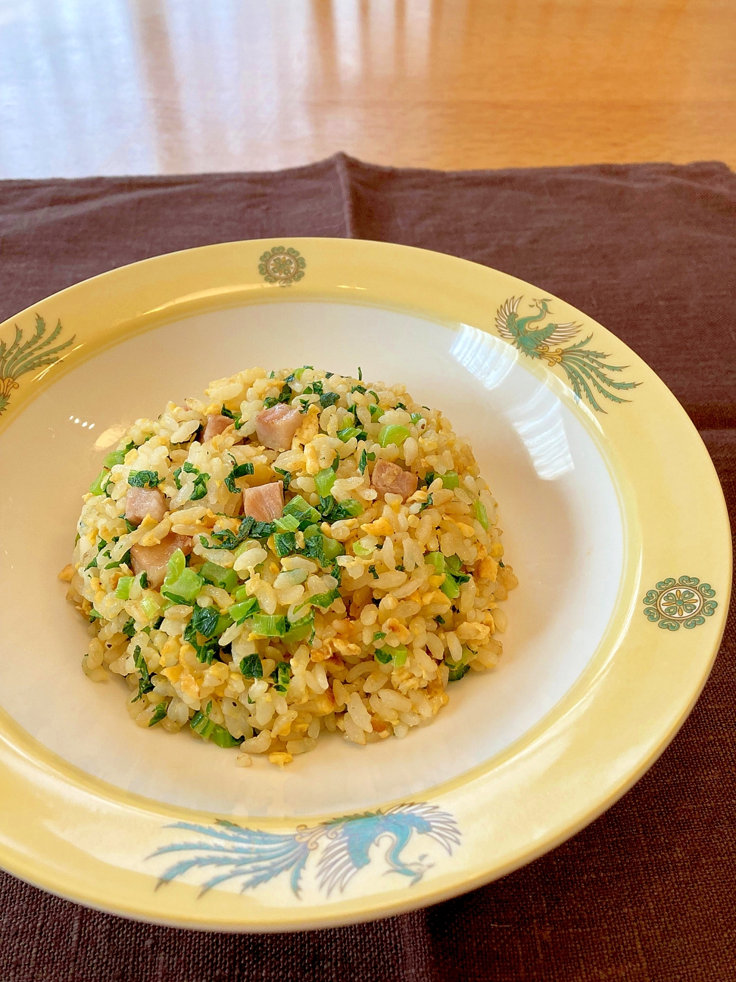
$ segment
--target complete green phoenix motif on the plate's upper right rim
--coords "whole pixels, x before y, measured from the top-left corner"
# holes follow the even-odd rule
[[[559,365],[567,375],[572,391],[578,399],[587,399],[593,409],[599,412],[605,412],[605,409],[598,404],[595,393],[611,403],[630,402],[617,396],[616,392],[635,389],[641,385],[641,382],[620,382],[606,374],[606,372],[623,371],[628,367],[627,365],[610,365],[605,360],[609,355],[587,348],[593,338],[592,334],[567,348],[555,347],[566,341],[572,341],[582,330],[582,325],[574,321],[567,321],[564,324],[550,321],[543,324],[543,321],[551,315],[548,303],[552,301],[549,299],[532,300],[530,306],[536,309],[537,313],[520,317],[519,303],[522,299],[510,297],[499,306],[496,326],[501,338],[510,341],[527,357],[544,358],[551,367]]]

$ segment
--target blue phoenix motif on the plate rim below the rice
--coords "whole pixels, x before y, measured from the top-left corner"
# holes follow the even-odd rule
[[[338,889],[342,893],[352,877],[371,862],[371,846],[389,840],[385,858],[387,873],[398,873],[410,885],[418,883],[434,863],[423,853],[413,862],[401,857],[416,833],[428,836],[452,854],[460,845],[460,832],[452,815],[426,802],[399,804],[386,811],[367,811],[345,815],[315,826],[300,825],[292,834],[245,829],[220,819],[214,826],[175,822],[170,829],[185,829],[203,840],[161,846],[149,859],[167,853],[185,853],[160,877],[158,887],[176,880],[191,869],[214,870],[202,884],[200,896],[228,880],[240,880],[240,893],[289,872],[289,884],[300,898],[301,874],[309,857],[319,852],[317,883],[327,897]]]

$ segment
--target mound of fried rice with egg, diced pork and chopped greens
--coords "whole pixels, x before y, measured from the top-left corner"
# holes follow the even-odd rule
[[[205,391],[137,419],[83,496],[60,576],[86,675],[241,766],[431,721],[497,664],[517,584],[468,442],[403,385],[311,366]]]

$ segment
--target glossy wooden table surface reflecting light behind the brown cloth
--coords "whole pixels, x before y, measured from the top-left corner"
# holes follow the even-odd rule
[[[736,0],[0,0],[0,40],[0,177],[736,167]]]

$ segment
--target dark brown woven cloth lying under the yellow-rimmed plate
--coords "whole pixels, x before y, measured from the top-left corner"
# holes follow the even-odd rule
[[[569,300],[642,355],[701,430],[733,522],[735,220],[736,175],[711,162],[446,174],[338,154],[275,174],[8,181],[0,320],[112,267],[237,239],[463,256]],[[0,982],[736,979],[735,663],[731,616],[655,767],[574,839],[472,894],[373,924],[233,936],[133,923],[0,874]]]

